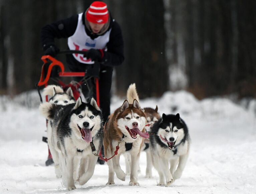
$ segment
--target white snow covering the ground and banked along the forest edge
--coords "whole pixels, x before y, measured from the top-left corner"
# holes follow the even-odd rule
[[[97,164],[85,185],[67,191],[61,179],[55,177],[54,167],[45,166],[47,145],[41,141],[46,135],[45,120],[33,108],[36,102],[30,102],[31,96],[38,98],[36,93],[29,98],[25,95],[26,102],[19,99],[24,95],[13,101],[0,97],[0,193],[256,193],[255,111],[247,111],[228,99],[199,101],[192,94],[179,91],[140,101],[141,107],[158,105],[161,114],[180,113],[189,127],[192,139],[189,160],[182,177],[171,187],[156,186],[159,176],[155,169],[152,179],[145,178],[143,152],[140,186],[129,186],[128,176],[124,182],[115,177],[116,185],[106,186],[107,164]],[[111,111],[123,100],[113,97]],[[124,159],[120,162],[125,170]]]

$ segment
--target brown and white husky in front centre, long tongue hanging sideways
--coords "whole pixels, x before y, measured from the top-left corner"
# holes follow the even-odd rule
[[[136,92],[136,87],[135,84],[132,84],[127,91],[128,97],[133,96],[134,92]],[[132,163],[129,185],[139,185],[137,182],[137,167],[144,138],[148,138],[149,134],[145,132],[146,116],[138,100],[138,98],[133,99],[131,104],[129,103],[130,100],[125,100],[122,106],[108,117],[108,121],[105,124],[103,139],[105,157],[110,158],[113,156],[115,148],[120,142],[118,154],[107,161],[107,185],[115,184],[114,173],[120,180],[125,180],[125,173],[120,167],[119,159],[120,155],[127,150],[131,154]]]

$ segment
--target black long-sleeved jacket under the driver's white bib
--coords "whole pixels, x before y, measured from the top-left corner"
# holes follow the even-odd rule
[[[86,31],[86,34],[92,39],[98,37],[98,35],[91,33],[85,26],[85,12],[82,15],[82,22]],[[121,28],[116,21],[110,16],[111,29],[109,35],[109,42],[106,44],[107,51],[104,51],[104,57],[102,59],[102,65],[117,66],[124,60],[123,55],[123,38]],[[52,24],[44,26],[41,30],[41,42],[43,50],[46,50],[50,45],[54,44],[54,38],[68,38],[75,33],[78,22],[78,14],[66,19],[56,21]],[[72,55],[67,55],[67,61],[73,65],[77,65],[79,62],[75,60]],[[71,64],[69,64],[71,65]]]

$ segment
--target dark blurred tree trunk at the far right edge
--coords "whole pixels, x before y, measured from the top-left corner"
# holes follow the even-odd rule
[[[237,91],[240,97],[256,96],[256,1],[237,0],[238,10],[238,74]]]

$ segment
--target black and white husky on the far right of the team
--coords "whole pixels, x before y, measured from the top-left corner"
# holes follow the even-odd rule
[[[162,118],[152,126],[151,131],[150,148],[153,165],[159,174],[158,185],[170,186],[181,177],[188,159],[190,137],[187,125],[180,118],[179,113],[163,114]]]

